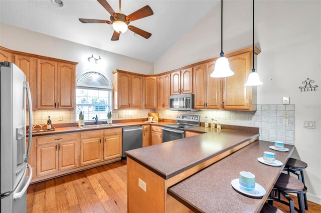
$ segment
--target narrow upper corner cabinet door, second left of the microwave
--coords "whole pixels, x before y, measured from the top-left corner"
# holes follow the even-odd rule
[[[145,108],[157,107],[157,77],[145,77]]]

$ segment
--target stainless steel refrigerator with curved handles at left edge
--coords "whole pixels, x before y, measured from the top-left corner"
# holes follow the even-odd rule
[[[3,213],[26,212],[27,188],[32,178],[32,168],[28,164],[33,120],[29,83],[26,82],[25,73],[14,63],[7,61],[0,62],[0,83],[0,209]],[[27,101],[30,134],[26,150]]]

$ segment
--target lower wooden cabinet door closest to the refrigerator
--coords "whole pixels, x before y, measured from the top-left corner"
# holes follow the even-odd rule
[[[37,146],[37,176],[58,171],[58,144]]]

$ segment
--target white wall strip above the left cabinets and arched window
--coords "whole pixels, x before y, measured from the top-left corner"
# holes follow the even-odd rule
[[[112,71],[121,69],[142,74],[152,74],[153,64],[132,57],[108,52],[83,44],[63,40],[20,27],[0,23],[0,45],[12,50],[78,62],[76,75],[86,69],[105,73],[113,81]],[[102,58],[102,64],[89,63],[88,57]]]

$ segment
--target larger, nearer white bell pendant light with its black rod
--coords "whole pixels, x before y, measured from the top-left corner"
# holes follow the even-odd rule
[[[229,60],[224,57],[223,52],[223,0],[221,0],[221,53],[220,57],[215,61],[215,67],[211,73],[211,77],[228,77],[234,72],[230,68]]]

